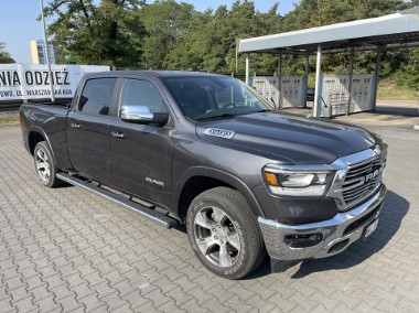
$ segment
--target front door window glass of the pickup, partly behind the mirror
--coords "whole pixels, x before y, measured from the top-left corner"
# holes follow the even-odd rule
[[[166,112],[159,90],[149,82],[126,79],[119,107],[147,107],[150,112]]]

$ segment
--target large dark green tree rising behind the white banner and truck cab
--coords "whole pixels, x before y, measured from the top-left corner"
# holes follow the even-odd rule
[[[57,62],[139,66],[144,29],[139,18],[143,0],[52,0],[55,18],[49,26]]]

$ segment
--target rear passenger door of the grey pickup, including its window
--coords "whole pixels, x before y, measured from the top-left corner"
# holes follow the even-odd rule
[[[109,121],[117,78],[88,79],[77,108],[68,114],[67,147],[74,169],[93,180],[111,183]]]

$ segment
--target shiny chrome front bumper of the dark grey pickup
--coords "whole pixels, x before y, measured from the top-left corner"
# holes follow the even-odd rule
[[[364,235],[366,226],[377,219],[387,188],[378,192],[351,211],[336,214],[333,218],[304,225],[286,225],[271,219],[258,218],[269,256],[278,260],[302,260],[325,258],[345,250]],[[321,234],[319,244],[305,248],[292,248],[286,237]]]

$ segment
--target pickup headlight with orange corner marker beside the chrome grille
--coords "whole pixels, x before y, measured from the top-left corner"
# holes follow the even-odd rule
[[[292,166],[287,166],[292,168]],[[272,194],[294,196],[324,195],[334,175],[334,171],[309,171],[265,166],[265,183]]]

